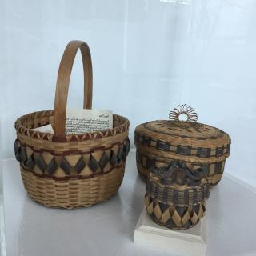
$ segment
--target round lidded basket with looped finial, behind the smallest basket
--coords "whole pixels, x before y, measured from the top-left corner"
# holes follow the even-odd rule
[[[187,121],[179,120],[181,114],[186,114]],[[230,155],[230,136],[196,121],[194,110],[181,105],[170,112],[170,120],[146,122],[136,127],[136,162],[142,178],[146,179],[154,166],[166,166],[180,160],[192,171],[205,170],[211,186],[220,181]]]

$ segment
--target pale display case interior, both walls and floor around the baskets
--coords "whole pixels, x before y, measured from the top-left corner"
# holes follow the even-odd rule
[[[144,207],[134,130],[187,103],[198,122],[230,134],[222,181],[206,205],[206,255],[255,255],[256,5],[253,0],[32,0],[0,2],[1,255],[170,255],[134,244]],[[52,110],[70,40],[90,45],[93,108],[130,120],[122,186],[108,202],[59,210],[32,201],[14,159],[14,122]],[[76,58],[68,105],[82,107]]]

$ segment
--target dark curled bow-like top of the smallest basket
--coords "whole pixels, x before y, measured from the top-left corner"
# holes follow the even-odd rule
[[[196,170],[190,170],[186,166],[185,162],[172,161],[167,167],[152,167],[151,171],[155,174],[162,184],[171,185],[189,185],[198,186],[202,178],[206,178],[206,170],[198,168]]]

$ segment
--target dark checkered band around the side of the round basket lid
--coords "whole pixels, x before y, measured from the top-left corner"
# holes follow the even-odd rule
[[[135,133],[134,142],[135,144],[139,142],[143,146],[152,146],[158,150],[164,150],[186,156],[196,156],[199,158],[220,157],[222,155],[228,156],[230,154],[230,144],[217,147],[215,149],[202,147],[194,148],[191,146],[171,145],[169,142],[155,140],[154,138],[142,136],[138,133]]]

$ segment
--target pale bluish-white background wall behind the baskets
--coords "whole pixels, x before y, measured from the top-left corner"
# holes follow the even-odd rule
[[[89,43],[94,108],[141,122],[178,103],[232,138],[226,171],[256,185],[256,1],[72,0],[0,2],[1,145],[13,157],[14,121],[52,109],[66,43]],[[82,106],[82,64],[69,106]]]

